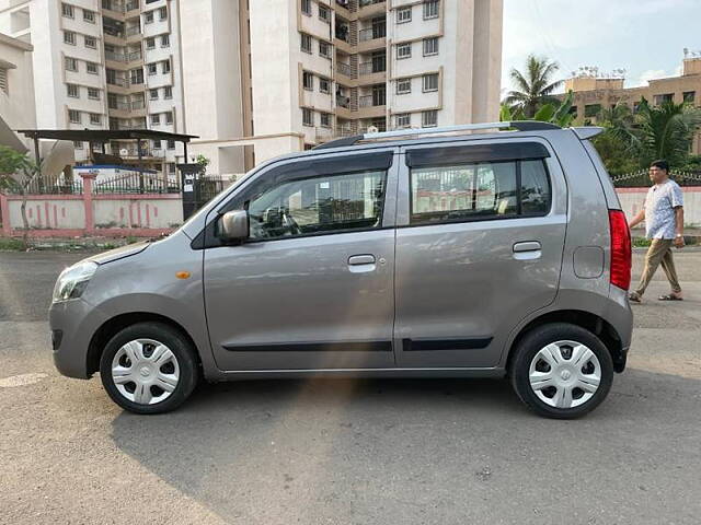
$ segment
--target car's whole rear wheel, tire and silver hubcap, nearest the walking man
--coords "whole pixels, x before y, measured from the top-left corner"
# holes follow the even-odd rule
[[[515,352],[509,370],[514,389],[541,416],[584,416],[611,388],[611,354],[599,338],[579,326],[539,326],[524,337]]]

